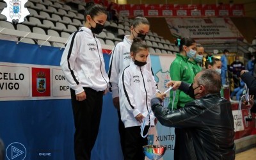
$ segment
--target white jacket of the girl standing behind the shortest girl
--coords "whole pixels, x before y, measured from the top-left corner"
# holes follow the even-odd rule
[[[112,92],[112,97],[119,97],[118,94],[118,78],[122,74],[124,68],[131,63],[131,52],[130,48],[133,40],[129,39],[129,36],[124,37],[124,41],[115,45],[112,50],[110,62],[109,62],[109,91]],[[148,56],[147,70],[151,71],[151,60]]]

